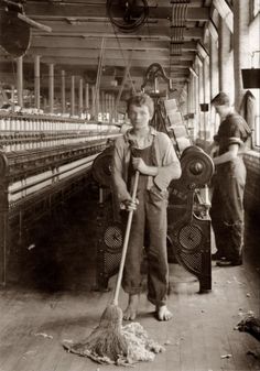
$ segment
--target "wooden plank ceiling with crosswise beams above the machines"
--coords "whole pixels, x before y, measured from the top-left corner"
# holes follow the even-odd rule
[[[132,1],[142,6],[142,1]],[[47,89],[48,64],[54,64],[56,89],[61,86],[61,70],[65,70],[67,88],[72,75],[95,84],[100,74],[100,89],[118,92],[140,90],[148,67],[158,63],[172,78],[173,88],[180,90],[199,54],[198,45],[207,48],[204,36],[212,0],[147,2],[145,22],[137,30],[122,32],[111,23],[106,0],[26,0],[25,15],[52,32],[31,28],[30,47],[23,58],[24,87],[33,88],[33,58],[40,55],[42,89]],[[115,20],[123,19],[122,7],[112,11]],[[15,59],[3,51],[0,79],[15,84]]]

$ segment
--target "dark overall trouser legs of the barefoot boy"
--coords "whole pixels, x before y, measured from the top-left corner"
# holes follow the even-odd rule
[[[166,252],[166,207],[167,192],[141,189],[139,205],[133,212],[128,245],[122,287],[133,295],[141,292],[141,263],[143,258],[144,231],[148,230],[148,299],[155,306],[166,302],[169,265]]]

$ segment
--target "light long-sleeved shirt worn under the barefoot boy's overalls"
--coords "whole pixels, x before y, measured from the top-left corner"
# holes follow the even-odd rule
[[[151,146],[152,143],[154,149],[152,153],[153,164],[158,166],[159,171],[156,176],[148,176],[147,189],[150,189],[155,184],[161,190],[165,190],[172,179],[181,176],[181,164],[170,138],[150,127],[144,148]],[[129,198],[130,189],[128,189],[127,184],[132,148],[139,149],[139,145],[130,129],[115,142],[111,171],[119,201]]]

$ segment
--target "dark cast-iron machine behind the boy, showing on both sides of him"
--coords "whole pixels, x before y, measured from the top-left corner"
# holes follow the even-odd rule
[[[160,66],[161,67],[161,66]],[[162,68],[151,65],[149,74],[153,78],[159,73],[164,79]],[[148,78],[147,78],[148,80]],[[144,85],[145,81],[144,80]],[[143,87],[144,87],[143,85]],[[182,166],[182,176],[170,185],[167,208],[169,261],[177,261],[199,282],[199,292],[212,290],[212,250],[210,218],[207,184],[214,173],[212,159],[198,146],[186,141],[186,148],[180,151],[180,128],[172,124],[167,110],[160,111],[162,97],[155,96],[155,113],[152,120],[156,129],[171,138]],[[171,101],[170,101],[171,103]],[[162,122],[163,120],[163,122]],[[183,130],[181,130],[183,132]],[[183,135],[183,134],[182,134]],[[184,135],[187,137],[185,130]],[[117,273],[123,240],[123,223],[117,206],[116,195],[111,190],[110,164],[112,146],[106,149],[94,162],[94,177],[101,188],[107,189],[108,197],[99,205],[97,240],[97,290],[107,290],[110,276]]]

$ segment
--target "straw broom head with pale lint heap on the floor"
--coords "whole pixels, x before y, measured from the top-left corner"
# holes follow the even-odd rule
[[[164,348],[149,338],[139,323],[122,327],[122,312],[110,305],[102,314],[99,326],[83,341],[63,343],[73,353],[88,357],[98,363],[130,365],[138,361],[153,361]]]

